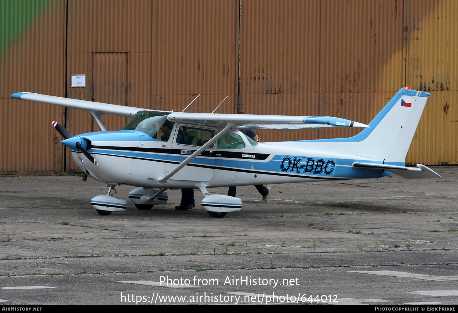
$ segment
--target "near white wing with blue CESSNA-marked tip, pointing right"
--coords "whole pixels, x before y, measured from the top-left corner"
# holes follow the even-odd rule
[[[178,113],[169,114],[169,121],[238,129],[307,130],[334,127],[369,127],[369,125],[332,116],[284,116],[255,114]]]

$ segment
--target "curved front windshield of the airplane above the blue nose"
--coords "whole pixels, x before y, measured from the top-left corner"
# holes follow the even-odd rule
[[[154,139],[168,141],[169,134],[165,134],[163,126],[167,124],[165,128],[171,130],[174,124],[167,120],[168,114],[167,112],[140,111],[123,127],[123,130],[137,130]]]

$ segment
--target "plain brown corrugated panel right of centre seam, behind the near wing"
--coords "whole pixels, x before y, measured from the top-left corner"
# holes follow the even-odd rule
[[[247,114],[319,115],[319,1],[242,1],[240,107]],[[257,131],[263,142],[317,130]]]

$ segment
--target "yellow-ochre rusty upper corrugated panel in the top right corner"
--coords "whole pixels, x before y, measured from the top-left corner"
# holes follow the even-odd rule
[[[458,2],[411,0],[408,10],[407,86],[458,90]]]

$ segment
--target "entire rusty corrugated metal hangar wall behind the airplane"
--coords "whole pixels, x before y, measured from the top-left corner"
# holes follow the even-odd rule
[[[457,164],[455,0],[16,0],[0,2],[0,172],[77,170],[56,120],[88,112],[13,100],[38,92],[161,110],[369,121],[403,86],[431,92],[407,163]],[[86,87],[71,87],[71,75]],[[104,115],[109,130],[125,118]],[[262,141],[356,129],[261,131]]]

